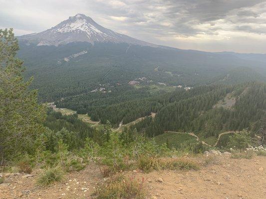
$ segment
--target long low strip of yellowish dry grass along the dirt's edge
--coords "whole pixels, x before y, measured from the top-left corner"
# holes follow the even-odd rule
[[[189,158],[148,158],[143,156],[139,159],[138,167],[145,172],[164,169],[198,170],[200,164]]]

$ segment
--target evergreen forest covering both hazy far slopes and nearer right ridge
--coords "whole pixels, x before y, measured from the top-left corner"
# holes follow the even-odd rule
[[[114,43],[56,47],[20,41],[20,47],[25,76],[34,76],[31,88],[38,89],[40,102],[54,101],[57,107],[88,114],[102,124],[110,121],[118,127],[153,112],[155,118],[147,117],[134,128],[149,136],[172,130],[209,137],[226,130],[258,129],[256,121],[264,114],[258,112],[264,107],[263,98],[245,97],[265,95],[256,89],[260,84],[245,86],[249,81],[266,81],[263,61],[246,60],[244,55]],[[64,60],[81,51],[87,53]],[[252,91],[247,89],[240,97],[246,88]],[[227,95],[236,98],[232,107],[215,106]]]

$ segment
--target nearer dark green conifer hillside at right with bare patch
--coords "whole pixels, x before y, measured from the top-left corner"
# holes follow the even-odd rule
[[[146,118],[135,127],[139,131],[145,129],[149,136],[170,130],[205,137],[218,136],[221,131],[260,128],[260,120],[266,117],[265,84],[221,86],[209,91],[207,88],[165,105],[154,119]]]

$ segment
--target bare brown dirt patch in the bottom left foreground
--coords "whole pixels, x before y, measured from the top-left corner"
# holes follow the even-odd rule
[[[97,184],[104,181],[98,166],[94,164],[82,171],[67,174],[62,183],[48,187],[37,187],[38,172],[34,171],[32,175],[5,178],[7,183],[0,184],[0,199],[90,199]]]

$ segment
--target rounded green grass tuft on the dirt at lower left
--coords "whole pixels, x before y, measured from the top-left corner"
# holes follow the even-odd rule
[[[60,167],[48,167],[43,169],[39,174],[37,184],[40,186],[47,186],[54,182],[61,182],[63,179],[64,172]]]

